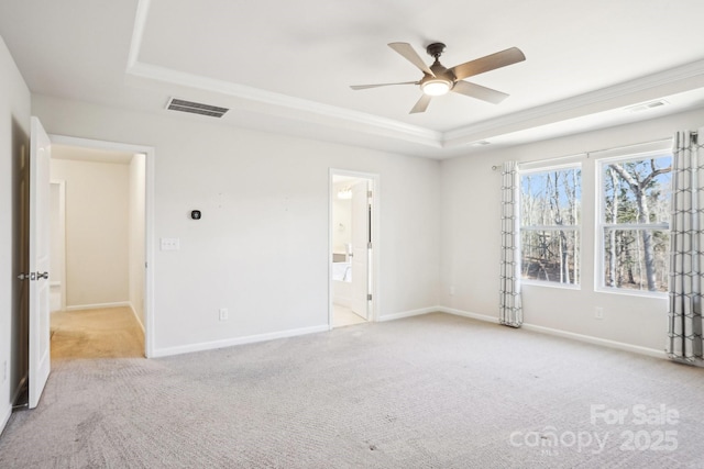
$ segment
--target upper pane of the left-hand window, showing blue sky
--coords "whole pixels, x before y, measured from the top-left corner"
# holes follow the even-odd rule
[[[582,198],[580,168],[527,172],[520,177],[521,226],[579,224]]]

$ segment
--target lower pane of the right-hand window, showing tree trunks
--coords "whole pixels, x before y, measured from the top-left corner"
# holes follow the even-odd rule
[[[604,286],[668,291],[670,233],[604,230]]]

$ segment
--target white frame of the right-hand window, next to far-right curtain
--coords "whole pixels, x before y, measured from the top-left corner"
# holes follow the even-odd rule
[[[661,147],[658,149],[651,149],[646,152],[631,152],[623,153],[617,156],[609,156],[600,158],[595,161],[595,197],[596,197],[596,210],[594,213],[594,291],[600,293],[613,293],[624,294],[632,297],[649,297],[649,298],[667,298],[666,291],[649,291],[649,290],[636,290],[618,287],[607,287],[605,278],[605,261],[606,261],[606,230],[650,230],[650,231],[664,231],[670,233],[670,222],[658,223],[606,223],[605,210],[606,210],[606,181],[605,181],[605,167],[613,163],[628,163],[638,161],[651,158],[667,157],[673,158],[672,148]],[[671,200],[670,200],[671,201]],[[666,258],[669,259],[669,252]]]

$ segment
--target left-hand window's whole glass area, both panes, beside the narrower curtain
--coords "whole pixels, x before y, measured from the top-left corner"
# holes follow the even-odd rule
[[[579,165],[520,171],[524,280],[580,283],[581,199]]]

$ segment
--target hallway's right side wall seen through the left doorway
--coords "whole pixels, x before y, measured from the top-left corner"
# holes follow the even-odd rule
[[[144,330],[144,263],[145,263],[145,183],[146,156],[138,154],[130,161],[129,206],[129,297],[136,319]]]

